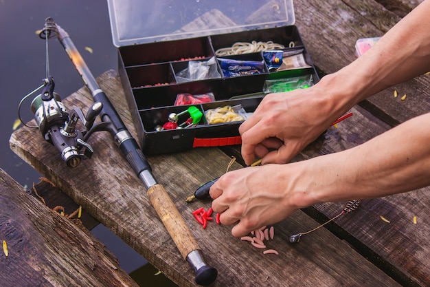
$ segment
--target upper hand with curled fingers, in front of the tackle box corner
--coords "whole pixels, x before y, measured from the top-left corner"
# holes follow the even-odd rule
[[[265,96],[239,127],[245,163],[286,163],[313,142],[339,116],[326,94],[315,85]]]

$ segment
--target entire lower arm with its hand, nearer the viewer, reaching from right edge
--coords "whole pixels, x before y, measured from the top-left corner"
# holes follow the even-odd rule
[[[319,202],[377,198],[430,185],[430,113],[363,145],[291,164],[230,171],[212,185],[212,208],[231,233],[280,222]]]

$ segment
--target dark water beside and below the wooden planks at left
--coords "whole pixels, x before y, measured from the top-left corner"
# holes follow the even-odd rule
[[[47,17],[69,33],[95,77],[106,70],[117,70],[117,49],[112,43],[106,0],[0,0],[0,168],[24,187],[32,187],[41,175],[11,151],[9,138],[18,118],[19,101],[45,78],[45,41],[36,35],[36,30],[43,28]],[[61,98],[84,85],[55,39],[49,41],[49,70]],[[30,103],[26,101],[21,110],[25,122],[33,118]],[[154,276],[157,270],[146,259],[101,224],[92,232],[140,286],[174,286],[166,277]]]

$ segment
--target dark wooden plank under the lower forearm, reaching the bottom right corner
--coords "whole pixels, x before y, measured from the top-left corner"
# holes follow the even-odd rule
[[[296,160],[316,156],[317,151],[332,153],[349,149],[389,129],[389,126],[383,125],[381,120],[360,107],[353,111],[354,116],[339,123],[338,129],[328,130],[323,137],[323,144],[315,142]],[[427,212],[429,193],[430,187],[426,187],[409,193],[365,200],[354,214],[337,220],[330,230],[360,248],[363,255],[372,255],[372,262],[404,286],[429,286],[430,262],[426,259],[430,251],[430,215]],[[308,213],[322,223],[339,214],[344,204],[317,204],[315,208],[324,216],[312,211]],[[381,220],[380,215],[391,223]],[[418,224],[414,224],[414,216],[419,218]]]

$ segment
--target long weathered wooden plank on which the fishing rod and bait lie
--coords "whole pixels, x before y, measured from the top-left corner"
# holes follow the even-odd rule
[[[106,72],[98,81],[133,131],[117,74]],[[80,89],[63,103],[67,107],[88,107],[90,98],[87,89]],[[191,267],[185,263],[150,206],[142,183],[109,137],[106,133],[93,135],[90,140],[95,149],[93,158],[83,161],[76,169],[65,167],[57,151],[41,140],[38,131],[21,128],[12,134],[10,144],[32,167],[52,180],[172,281],[180,286],[195,286]],[[152,156],[148,160],[155,177],[170,193],[185,222],[191,227],[207,261],[218,269],[218,279],[212,286],[398,286],[348,244],[326,230],[306,238],[306,244],[288,244],[291,234],[316,224],[301,211],[275,225],[276,237],[268,246],[278,250],[279,256],[263,255],[261,250],[232,237],[229,226],[210,222],[206,229],[201,228],[194,220],[192,211],[201,206],[209,209],[210,202],[185,204],[185,198],[200,184],[225,172],[230,158],[219,149],[194,149]],[[240,168],[239,164],[232,167],[237,168]],[[298,271],[299,268],[301,270]]]

